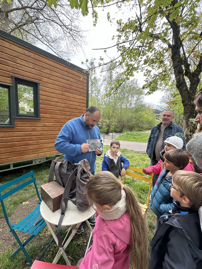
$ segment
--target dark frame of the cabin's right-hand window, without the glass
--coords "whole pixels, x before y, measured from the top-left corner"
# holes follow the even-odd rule
[[[15,116],[14,118],[36,118],[40,119],[40,98],[39,98],[39,83],[31,80],[27,80],[24,78],[18,78],[12,76],[13,79],[13,87],[15,89]],[[27,86],[33,87],[33,107],[34,107],[34,115],[31,114],[19,114],[18,112],[18,88],[17,84],[25,84]]]

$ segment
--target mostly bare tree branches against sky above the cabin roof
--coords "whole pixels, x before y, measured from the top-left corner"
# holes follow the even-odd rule
[[[31,44],[40,42],[63,59],[82,49],[80,14],[67,0],[0,0],[0,29]]]

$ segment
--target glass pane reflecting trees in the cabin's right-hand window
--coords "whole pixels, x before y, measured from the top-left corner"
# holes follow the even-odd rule
[[[18,114],[34,115],[33,86],[17,83]]]

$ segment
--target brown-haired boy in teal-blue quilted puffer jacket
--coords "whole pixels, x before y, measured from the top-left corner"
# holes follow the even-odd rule
[[[171,197],[170,185],[172,183],[172,176],[177,170],[184,169],[189,163],[189,156],[186,151],[182,149],[171,149],[164,154],[164,167],[156,186],[151,193],[150,208],[157,216],[158,220],[161,215],[171,210],[174,205],[173,198]]]

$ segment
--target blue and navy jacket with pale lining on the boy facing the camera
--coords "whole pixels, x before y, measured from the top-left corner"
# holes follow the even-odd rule
[[[112,161],[114,161],[113,159],[111,159],[109,157],[109,153],[111,152],[111,150],[109,149],[105,154],[104,154],[104,159],[102,161],[102,171],[110,171],[111,172],[111,165],[112,165]],[[119,176],[121,174],[121,170],[122,168],[125,168],[126,170],[128,169],[129,166],[129,161],[128,159],[126,159],[121,153],[120,151],[118,151],[117,156],[119,157]],[[123,163],[123,165],[122,165]]]

